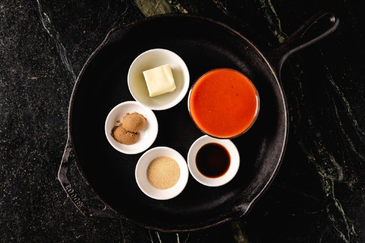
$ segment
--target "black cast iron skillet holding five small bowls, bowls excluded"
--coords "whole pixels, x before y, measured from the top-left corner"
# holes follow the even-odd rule
[[[246,215],[276,175],[287,143],[281,66],[293,52],[333,32],[338,23],[333,13],[317,13],[268,55],[237,31],[202,17],[158,15],[112,29],[85,63],[73,89],[68,141],[58,172],[62,187],[85,216],[128,219],[161,231],[197,230]],[[226,67],[241,71],[257,87],[260,114],[247,133],[233,139],[241,166],[230,183],[206,187],[189,176],[180,195],[154,200],[135,182],[141,154],[122,154],[108,143],[104,122],[109,111],[133,100],[127,87],[128,68],[135,57],[152,48],[181,56],[191,84],[208,70]],[[191,144],[203,135],[190,119],[187,95],[177,106],[155,114],[159,131],[151,147],[169,146],[186,158]],[[105,205],[103,209],[89,207],[74,191],[66,176],[71,163],[76,163],[81,177]]]

